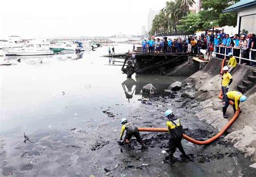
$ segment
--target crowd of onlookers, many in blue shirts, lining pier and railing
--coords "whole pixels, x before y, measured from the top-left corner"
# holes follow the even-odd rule
[[[249,32],[247,35],[242,34],[226,34],[224,30],[221,31],[205,31],[201,36],[185,36],[183,39],[174,38],[149,38],[142,41],[143,54],[144,53],[194,53],[200,54],[200,49],[206,49],[208,55],[213,51],[219,53],[219,58],[224,58],[223,54],[232,53],[233,56],[241,56],[241,58],[255,60],[255,34]],[[241,55],[240,55],[240,49]],[[252,52],[250,52],[252,51]],[[222,54],[222,55],[221,55]],[[238,60],[238,58],[237,58]],[[255,66],[256,61],[241,60],[244,65]]]

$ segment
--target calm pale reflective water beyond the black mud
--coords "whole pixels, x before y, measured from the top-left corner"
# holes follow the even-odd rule
[[[123,104],[123,112],[140,104],[147,83],[166,89],[184,77],[146,75],[130,80],[122,74],[122,59],[102,58],[109,46],[83,54],[6,56],[21,63],[1,66],[1,134],[65,130],[93,120],[97,124],[111,105]],[[115,46],[126,52],[132,45]],[[128,99],[129,98],[129,99]]]

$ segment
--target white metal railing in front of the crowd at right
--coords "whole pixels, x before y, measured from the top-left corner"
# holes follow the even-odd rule
[[[217,47],[218,47],[218,51],[217,51]],[[224,51],[225,51],[224,53],[221,53],[221,51],[223,51],[223,49],[221,50],[221,48],[225,48],[224,49]],[[255,62],[255,64],[256,64],[256,60],[252,59],[252,52],[253,51],[256,52],[256,49],[250,49],[250,51],[249,51],[249,59],[242,58],[242,56],[241,56],[242,55],[242,51],[246,50],[245,48],[235,48],[235,47],[231,48],[231,47],[226,47],[226,46],[214,46],[213,55],[216,56],[216,54],[218,54],[218,55],[228,56],[227,55],[227,48],[230,48],[230,52],[232,52],[232,54],[234,52],[234,49],[239,49],[240,50],[239,56],[234,56],[233,55],[235,58],[239,59],[239,64],[241,64],[241,59],[242,60],[252,61],[252,62]],[[254,56],[254,58],[255,58],[255,56]]]

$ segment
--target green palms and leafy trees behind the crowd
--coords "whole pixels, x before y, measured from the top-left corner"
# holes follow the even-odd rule
[[[166,2],[165,8],[154,18],[150,34],[181,31],[194,33],[212,26],[235,26],[237,25],[237,13],[222,13],[221,11],[238,1],[202,0],[203,10],[197,14],[189,13],[189,7],[194,4],[194,0]]]

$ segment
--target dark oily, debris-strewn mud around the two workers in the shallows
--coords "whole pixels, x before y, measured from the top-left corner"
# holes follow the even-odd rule
[[[182,140],[191,161],[174,153],[176,162],[169,163],[169,134],[140,132],[147,150],[136,139],[131,146],[118,144],[120,118],[126,117],[138,127],[166,128],[165,110],[172,109],[181,119],[184,132],[194,139],[206,140],[217,130],[191,114],[196,101],[169,95],[141,98],[124,113],[124,105],[115,103],[101,108],[99,121],[89,119],[84,126],[67,130],[40,131],[26,134],[33,143],[24,143],[23,134],[1,137],[0,165],[3,176],[255,176],[243,157],[224,136],[207,146]]]

